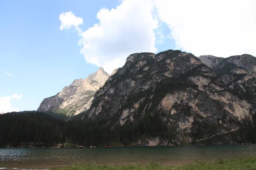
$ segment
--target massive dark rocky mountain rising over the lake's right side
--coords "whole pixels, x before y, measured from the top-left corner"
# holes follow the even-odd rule
[[[255,74],[256,58],[247,54],[229,58],[198,58],[173,50],[131,54],[96,92],[83,115],[104,117],[113,128],[157,115],[167,129],[161,134],[169,136],[153,135],[152,141],[159,145],[250,141],[256,123]]]

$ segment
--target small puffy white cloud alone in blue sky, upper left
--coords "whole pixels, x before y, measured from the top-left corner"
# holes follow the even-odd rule
[[[83,24],[83,19],[76,17],[72,11],[62,12],[59,16],[59,20],[61,21],[60,30],[70,29],[72,26],[78,28],[79,25]]]

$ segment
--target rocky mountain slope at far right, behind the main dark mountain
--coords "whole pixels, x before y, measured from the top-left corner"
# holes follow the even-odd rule
[[[255,114],[256,57],[249,54],[231,56],[222,59],[213,70],[216,76],[224,82],[228,91],[250,103],[250,112]]]

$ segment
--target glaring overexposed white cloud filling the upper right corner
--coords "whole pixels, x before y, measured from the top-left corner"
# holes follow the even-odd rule
[[[192,54],[256,56],[255,0],[154,0],[177,48]]]

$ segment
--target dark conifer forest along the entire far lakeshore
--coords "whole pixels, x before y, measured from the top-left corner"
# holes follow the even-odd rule
[[[181,112],[183,114],[180,116],[189,113],[184,109]],[[209,123],[208,118],[203,121],[194,117],[195,121],[190,134],[178,130],[178,124],[175,122],[165,122],[163,119],[165,113],[145,112],[145,114],[141,114],[134,115],[133,121],[127,119],[123,125],[119,123],[119,115],[107,117],[103,113],[99,113],[95,119],[88,119],[86,116],[83,116],[83,119],[80,117],[79,119],[64,119],[63,115],[36,111],[0,114],[0,147],[18,147],[20,145],[28,147],[31,144],[34,147],[51,147],[65,143],[87,147],[91,145],[131,145],[136,144],[139,140],[146,144],[146,139],[154,137],[159,137],[160,141],[172,141],[172,144],[179,140],[181,141],[177,144],[188,144],[186,139],[189,136],[193,138],[190,144],[198,144],[197,139],[204,138],[208,133],[215,134],[215,131],[221,129],[221,127]],[[172,119],[177,118],[172,117]],[[252,120],[244,119],[237,122],[239,130],[226,135],[216,135],[204,142],[206,144],[255,143],[255,114],[252,115]],[[184,140],[180,138],[184,138]]]

